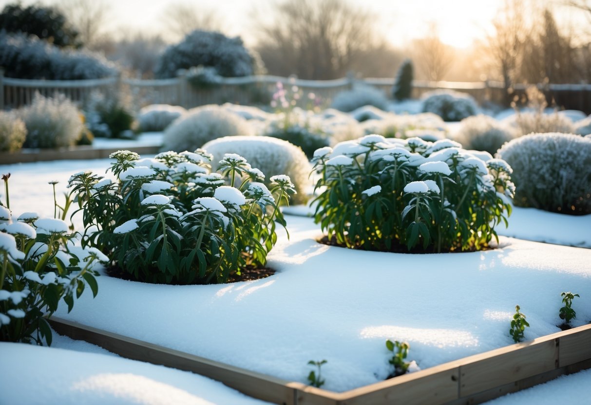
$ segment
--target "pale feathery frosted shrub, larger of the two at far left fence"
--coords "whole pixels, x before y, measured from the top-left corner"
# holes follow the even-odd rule
[[[25,148],[60,148],[76,144],[83,124],[76,106],[63,94],[43,97],[17,112],[27,127]]]

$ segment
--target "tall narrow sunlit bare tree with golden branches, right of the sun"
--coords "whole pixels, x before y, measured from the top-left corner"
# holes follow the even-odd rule
[[[521,63],[522,50],[530,29],[525,23],[525,2],[505,0],[499,10],[493,27],[495,32],[488,35],[488,54],[492,67],[500,73],[504,82],[505,102],[511,103],[512,83]]]

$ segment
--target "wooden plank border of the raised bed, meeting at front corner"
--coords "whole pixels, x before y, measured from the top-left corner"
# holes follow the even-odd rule
[[[591,368],[591,325],[447,362],[391,380],[334,393],[255,373],[53,317],[59,334],[122,357],[192,371],[257,399],[283,405],[478,404]]]

